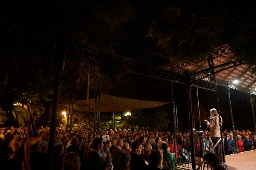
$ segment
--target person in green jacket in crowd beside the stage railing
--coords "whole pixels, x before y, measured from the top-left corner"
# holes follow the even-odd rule
[[[176,169],[176,156],[170,152],[170,146],[168,143],[165,143],[162,145],[163,148],[163,157],[165,158],[165,160],[168,159],[169,163],[168,166],[166,166],[166,168],[168,170],[175,170]]]

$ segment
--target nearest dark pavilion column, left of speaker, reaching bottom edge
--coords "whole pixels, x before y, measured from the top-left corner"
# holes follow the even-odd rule
[[[194,141],[194,134],[193,134],[193,115],[192,115],[192,98],[191,98],[191,90],[192,87],[189,85],[187,87],[187,93],[188,93],[188,110],[189,110],[189,116],[190,116],[190,148],[191,148],[191,161],[192,161],[192,168],[193,170],[196,170],[195,165],[195,141]]]

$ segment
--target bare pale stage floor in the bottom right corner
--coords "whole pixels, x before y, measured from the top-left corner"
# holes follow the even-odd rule
[[[228,170],[256,170],[256,150],[225,156]]]

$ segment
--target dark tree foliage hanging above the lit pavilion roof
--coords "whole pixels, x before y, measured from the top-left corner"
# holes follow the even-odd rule
[[[209,57],[216,46],[228,44],[237,60],[254,66],[255,9],[252,2],[231,0],[173,3],[151,20],[146,37],[156,38],[156,45],[165,50],[171,62],[198,63]]]

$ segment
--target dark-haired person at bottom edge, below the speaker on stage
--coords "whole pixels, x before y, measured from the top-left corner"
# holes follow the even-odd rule
[[[226,163],[220,162],[219,157],[215,153],[206,153],[203,159],[214,170],[227,170]]]

